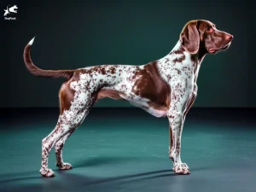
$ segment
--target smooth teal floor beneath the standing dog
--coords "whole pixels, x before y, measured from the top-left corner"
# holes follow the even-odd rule
[[[1,109],[0,191],[221,192],[256,189],[256,118],[253,109],[192,108],[183,128],[175,175],[168,158],[168,121],[139,108],[93,108],[63,150],[72,170],[59,171],[54,150],[39,174],[41,141],[58,109]]]

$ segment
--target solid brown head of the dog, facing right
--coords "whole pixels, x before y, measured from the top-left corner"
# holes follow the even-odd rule
[[[183,48],[190,54],[205,49],[207,53],[215,54],[230,47],[233,36],[227,32],[219,31],[208,20],[190,20],[180,34]]]

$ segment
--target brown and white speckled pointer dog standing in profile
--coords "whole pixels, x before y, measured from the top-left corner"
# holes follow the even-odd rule
[[[31,60],[34,38],[24,49],[24,61],[30,73],[47,78],[65,78],[59,92],[60,115],[55,129],[42,140],[40,173],[54,177],[48,167],[51,148],[55,147],[56,166],[72,166],[62,159],[62,148],[81,125],[96,101],[104,97],[125,100],[155,117],[169,120],[169,157],[172,170],[189,174],[189,166],[180,158],[183,124],[197,96],[196,80],[205,55],[228,49],[233,36],[219,31],[208,20],[190,20],[180,33],[177,44],[163,58],[141,66],[100,65],[76,70],[43,70]]]

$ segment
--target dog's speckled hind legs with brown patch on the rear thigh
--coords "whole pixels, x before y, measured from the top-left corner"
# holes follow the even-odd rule
[[[40,173],[44,177],[53,177],[54,172],[48,168],[48,157],[51,148],[55,146],[57,157],[57,166],[61,169],[69,169],[69,164],[64,164],[61,155],[61,149],[67,137],[84,121],[85,116],[89,113],[90,107],[94,103],[94,96],[90,91],[71,90],[67,84],[61,87],[61,114],[55,130],[42,141],[42,164]]]

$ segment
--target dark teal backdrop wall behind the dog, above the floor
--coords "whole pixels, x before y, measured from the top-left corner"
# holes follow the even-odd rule
[[[192,3],[193,2],[193,3]],[[1,108],[58,107],[63,79],[27,72],[25,45],[37,36],[32,61],[44,69],[100,64],[141,65],[160,59],[177,43],[189,20],[205,19],[234,35],[230,49],[207,55],[198,79],[195,107],[256,107],[253,31],[245,1],[6,1],[16,3],[17,20],[1,24]],[[128,107],[110,99],[97,107]]]

